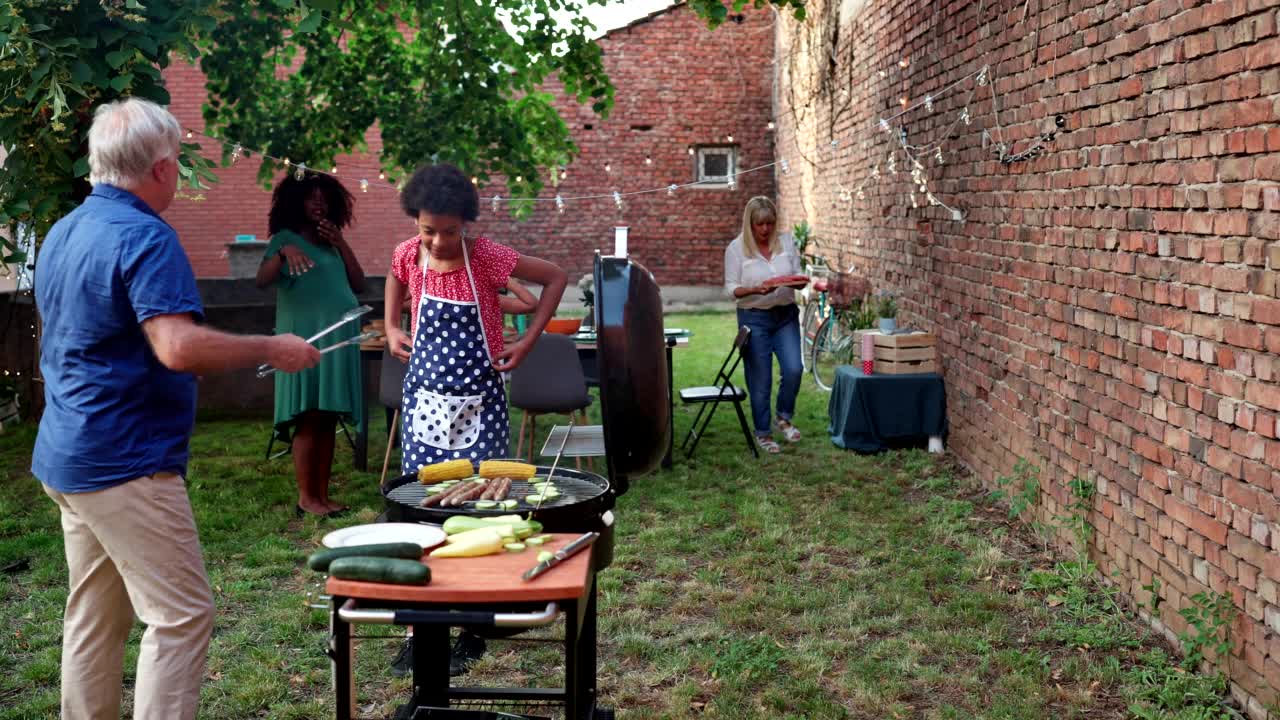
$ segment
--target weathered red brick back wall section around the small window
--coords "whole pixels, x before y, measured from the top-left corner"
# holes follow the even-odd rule
[[[724,245],[737,234],[742,206],[754,195],[773,195],[773,170],[739,178],[737,190],[690,187],[623,199],[620,213],[609,197],[622,192],[692,182],[689,145],[723,143],[732,135],[739,168],[773,161],[773,13],[748,12],[742,22],[707,29],[687,6],[677,6],[599,40],[613,81],[616,104],[607,120],[589,106],[559,102],[561,117],[581,149],[558,192],[564,213],[541,202],[525,222],[506,209],[494,215],[489,199],[506,188],[481,188],[477,229],[495,240],[550,260],[571,278],[590,270],[596,249],[612,251],[613,227],[627,225],[628,254],[660,284],[721,284]],[[591,129],[586,129],[591,126]],[[650,127],[652,129],[639,129]],[[653,159],[645,164],[645,156]],[[605,163],[611,173],[604,172]],[[553,197],[548,187],[543,195]],[[573,288],[566,295],[576,295]]]

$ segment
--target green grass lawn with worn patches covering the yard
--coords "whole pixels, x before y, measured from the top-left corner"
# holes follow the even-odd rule
[[[677,387],[708,383],[732,316],[667,324],[695,333],[675,354]],[[691,419],[677,407],[677,443]],[[795,421],[803,442],[755,460],[722,410],[694,461],[677,457],[620,500],[616,561],[600,575],[603,705],[634,719],[1229,716],[1217,685],[1170,689],[1183,676],[1156,641],[945,456],[836,448],[827,396],[808,378]],[[378,473],[355,471],[339,443],[334,496],[360,511],[296,520],[288,459],[262,460],[268,428],[202,420],[192,441],[218,602],[201,717],[333,715],[326,615],[305,607],[319,578],[303,559],[324,533],[381,510]],[[0,573],[0,720],[58,716],[67,577],[58,512],[28,473],[33,439],[33,425],[0,434],[0,568],[29,565]],[[384,671],[394,652],[393,641],[361,643],[369,715],[389,715],[408,691]],[[545,644],[490,642],[470,679],[554,682],[557,662]],[[1207,712],[1183,708],[1193,692]]]

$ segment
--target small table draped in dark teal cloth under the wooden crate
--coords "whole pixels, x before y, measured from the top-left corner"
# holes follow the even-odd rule
[[[942,375],[864,375],[841,365],[827,405],[831,442],[845,450],[877,452],[937,438],[947,432]],[[936,447],[931,447],[936,450]]]

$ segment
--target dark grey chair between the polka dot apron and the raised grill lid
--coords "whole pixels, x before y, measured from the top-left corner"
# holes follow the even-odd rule
[[[572,418],[577,414],[581,419],[577,424],[586,425],[586,407],[591,405],[591,396],[586,391],[577,346],[568,336],[557,333],[538,336],[534,348],[525,356],[524,363],[511,372],[508,392],[511,406],[524,411],[516,457],[525,456],[527,437],[527,459],[530,462],[534,461],[539,415],[561,414]],[[590,459],[588,462],[590,464]],[[581,459],[577,459],[577,466],[581,469]]]

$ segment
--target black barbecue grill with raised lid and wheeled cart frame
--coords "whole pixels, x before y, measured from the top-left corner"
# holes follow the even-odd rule
[[[595,327],[596,352],[600,375],[600,409],[603,415],[603,436],[608,477],[582,470],[563,469],[558,465],[552,482],[561,495],[548,498],[532,512],[547,532],[582,533],[599,532],[593,548],[593,575],[588,596],[575,603],[566,603],[566,685],[562,691],[547,689],[490,689],[490,688],[448,688],[438,679],[439,657],[428,657],[420,643],[415,642],[415,687],[416,697],[433,696],[448,698],[457,706],[466,698],[490,700],[529,700],[559,697],[564,706],[566,720],[591,720],[612,717],[612,711],[595,707],[595,579],[594,573],[607,568],[613,557],[613,514],[618,496],[626,493],[632,478],[652,471],[662,460],[667,448],[669,433],[669,386],[666,337],[663,336],[662,296],[653,275],[643,265],[625,258],[595,256]],[[539,466],[538,475],[548,477],[550,466]],[[512,483],[508,497],[524,498],[532,492],[525,480]],[[453,515],[506,515],[530,512],[531,507],[521,502],[516,509],[476,510],[474,506],[461,507],[422,507],[428,487],[417,480],[416,473],[404,474],[385,486],[383,495],[387,503],[387,516],[392,521],[443,523]],[[349,641],[348,621],[358,615],[339,607],[346,598],[334,597],[334,642]],[[494,626],[530,626],[527,607],[513,607],[495,601],[490,606],[466,606],[467,612],[397,611],[397,624],[412,624],[415,637],[424,638],[440,629],[445,616],[480,616],[488,611]],[[376,611],[375,611],[376,612]],[[497,615],[494,615],[497,612]],[[434,619],[433,619],[434,618]],[[506,621],[499,619],[506,618]],[[392,620],[365,620],[392,621]],[[524,623],[524,625],[521,625]],[[457,625],[458,623],[452,623]],[[444,639],[448,628],[443,628]],[[337,644],[335,644],[337,647]],[[447,646],[445,646],[447,647]],[[419,656],[417,653],[424,655]],[[335,652],[340,657],[342,652]],[[444,659],[447,660],[447,659]],[[421,661],[421,662],[420,662]],[[430,671],[419,667],[431,664]],[[447,662],[445,662],[447,665]],[[343,703],[349,701],[344,687],[349,680],[349,667],[340,660],[335,661],[335,680],[339,701],[339,717],[343,717]],[[424,687],[435,683],[434,689],[424,692]],[[453,715],[453,710],[407,707],[410,717],[465,717]],[[497,717],[493,714],[475,717]]]

